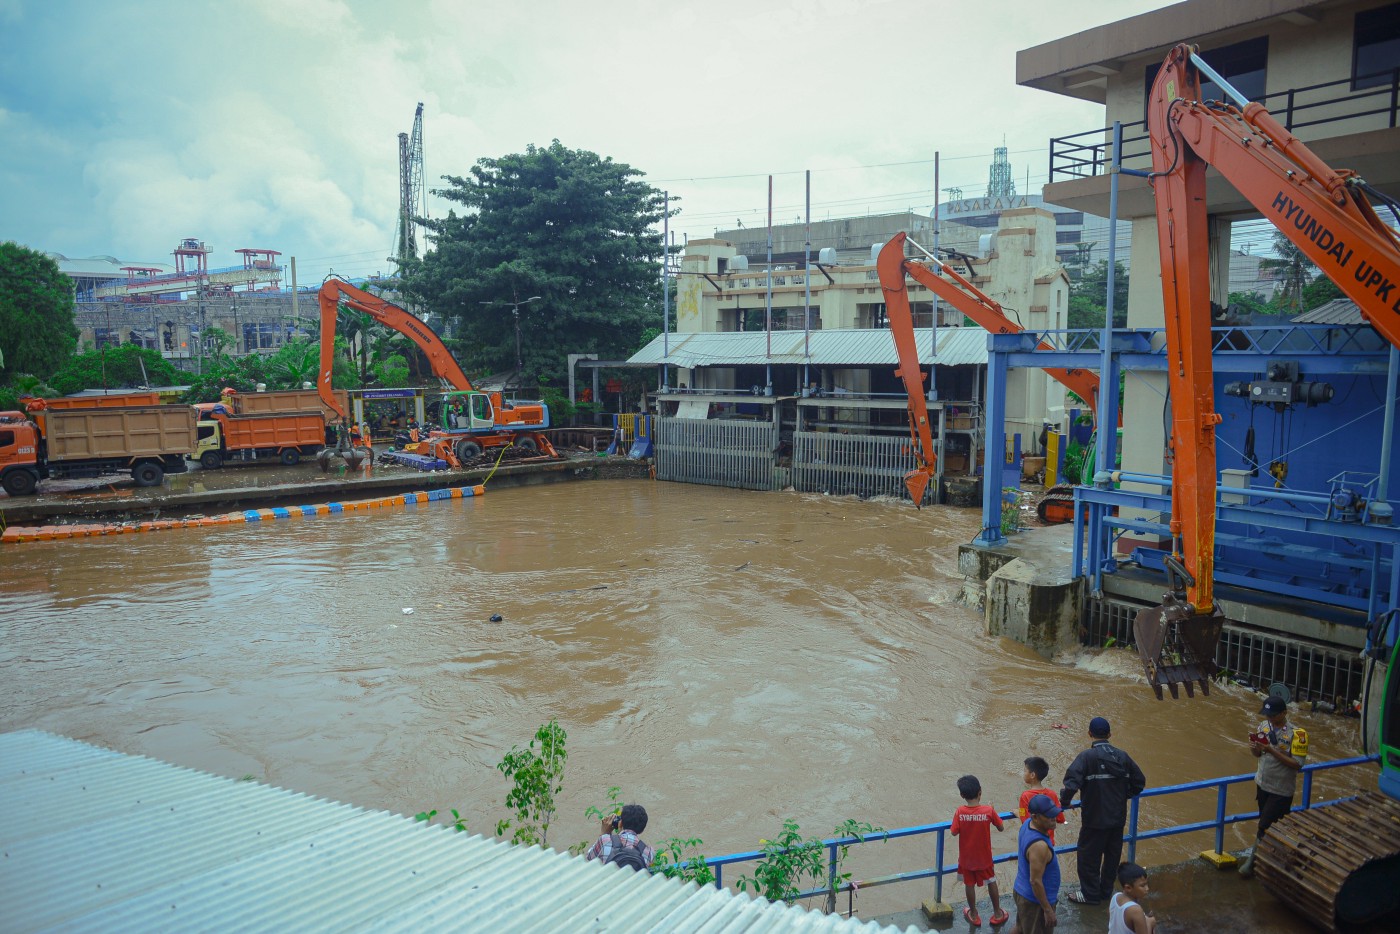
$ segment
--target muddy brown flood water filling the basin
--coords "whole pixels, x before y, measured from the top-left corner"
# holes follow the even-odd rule
[[[620,786],[650,811],[648,840],[701,837],[708,856],[755,849],[785,818],[805,835],[945,821],[965,773],[1011,808],[1022,759],[1049,759],[1057,783],[1093,716],[1152,786],[1253,770],[1254,695],[1158,702],[1134,654],[1053,664],[987,637],[958,601],[958,546],[977,527],[972,510],[616,480],[7,548],[0,730],[399,814],[455,807],[491,833],[496,763],[554,717],[568,763],[552,846],[595,835],[585,808]],[[1355,721],[1295,721],[1313,760],[1354,753]],[[1329,774],[1327,797],[1375,780]],[[1212,794],[1144,804],[1149,826],[1211,814]],[[848,864],[857,878],[925,868],[932,837],[857,847]],[[857,907],[931,895],[869,889]]]

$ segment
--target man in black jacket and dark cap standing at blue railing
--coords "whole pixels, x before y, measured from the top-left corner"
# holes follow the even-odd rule
[[[1098,905],[1113,895],[1113,879],[1123,856],[1123,825],[1128,819],[1128,798],[1147,787],[1142,770],[1128,753],[1109,742],[1109,721],[1089,721],[1088,749],[1075,756],[1064,773],[1061,807],[1068,808],[1075,794],[1079,805],[1079,891],[1071,902]]]

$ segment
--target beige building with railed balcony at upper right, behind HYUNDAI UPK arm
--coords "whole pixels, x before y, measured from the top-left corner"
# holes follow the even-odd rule
[[[1358,171],[1400,196],[1400,129],[1393,94],[1400,67],[1400,3],[1386,0],[1186,0],[1162,10],[1025,49],[1016,81],[1103,104],[1103,126],[1124,123],[1124,165],[1149,168],[1147,95],[1168,50],[1197,45],[1203,57],[1250,99],[1260,101],[1334,168]],[[1203,97],[1222,97],[1205,88]],[[1109,175],[1085,147],[1103,146],[1102,127],[1067,126],[1051,140],[1049,203],[1107,214]],[[1215,169],[1207,174],[1214,298],[1225,302],[1231,223],[1259,211]],[[1131,223],[1128,326],[1163,325],[1161,262],[1152,190],[1120,176],[1119,213]],[[1123,468],[1165,472],[1163,374],[1130,372],[1123,402]]]

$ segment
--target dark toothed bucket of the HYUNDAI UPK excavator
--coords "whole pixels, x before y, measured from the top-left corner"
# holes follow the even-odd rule
[[[1219,606],[1211,613],[1196,613],[1175,594],[1168,594],[1159,606],[1138,611],[1133,637],[1147,683],[1152,685],[1158,700],[1162,700],[1163,686],[1173,699],[1180,697],[1177,685],[1186,686],[1187,697],[1196,696],[1197,683],[1201,693],[1211,693],[1211,678],[1219,671],[1215,643],[1224,627],[1225,615]]]

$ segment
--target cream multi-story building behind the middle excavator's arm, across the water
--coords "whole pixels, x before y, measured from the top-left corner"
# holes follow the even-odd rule
[[[899,218],[907,225],[890,230],[890,221]],[[804,267],[804,253],[791,248],[791,241],[780,241],[774,228],[774,263],[771,283],[764,253],[750,256],[741,245],[725,239],[693,239],[686,245],[680,259],[680,274],[676,283],[676,329],[678,339],[697,335],[687,347],[689,360],[708,360],[710,365],[686,368],[679,379],[692,389],[748,389],[760,385],[777,395],[799,395],[804,388],[826,389],[851,393],[897,393],[900,386],[892,365],[871,365],[869,358],[843,360],[839,351],[822,354],[818,365],[806,360],[792,360],[787,351],[783,364],[776,370],[764,358],[738,358],[736,346],[725,335],[735,332],[871,332],[878,337],[883,357],[895,361],[893,342],[888,336],[885,297],[875,273],[874,252],[881,242],[865,244],[857,251],[846,244],[864,242],[872,235],[886,238],[903,230],[925,248],[932,246],[931,227],[918,214],[896,214],[827,221],[829,225],[848,228],[837,241],[840,249],[827,248],[826,253],[813,252],[812,266]],[[983,253],[967,256],[973,284],[1001,302],[1008,314],[1022,326],[1035,329],[1065,328],[1068,315],[1070,279],[1056,258],[1054,216],[1040,209],[1004,210],[998,218],[1000,227],[991,231],[983,244]],[[798,227],[798,237],[802,228]],[[788,234],[788,231],[783,231]],[[778,244],[781,242],[781,249]],[[745,242],[745,248],[752,248]],[[855,256],[855,262],[841,262],[841,258]],[[771,295],[771,297],[770,297]],[[930,349],[934,336],[934,295],[923,286],[909,283],[910,304],[914,323],[921,329],[920,346]],[[811,304],[808,304],[811,297]],[[939,328],[962,329],[967,322],[962,312],[938,302]],[[972,325],[976,328],[976,325]],[[981,365],[986,363],[986,335],[976,328],[977,335],[963,340],[955,332],[944,332],[938,340],[944,344],[938,354],[924,351],[925,363],[941,364],[952,353],[952,340],[962,340],[974,350],[976,363],[958,357],[953,368],[935,365],[935,391],[944,399],[970,400],[979,398],[981,386]],[[713,337],[713,353],[701,351]],[[855,337],[853,335],[853,337]],[[855,337],[847,346],[857,346]],[[825,342],[823,342],[825,343]],[[784,344],[785,346],[785,344]],[[960,346],[960,344],[959,344]],[[724,349],[731,349],[725,356]],[[801,354],[799,354],[801,357]],[[963,367],[967,367],[963,370]],[[771,374],[771,375],[770,375]],[[1040,371],[1018,371],[1008,388],[1008,430],[1036,435],[1046,419],[1057,420],[1064,409],[1064,391],[1051,384]]]

